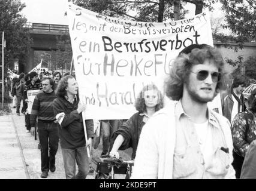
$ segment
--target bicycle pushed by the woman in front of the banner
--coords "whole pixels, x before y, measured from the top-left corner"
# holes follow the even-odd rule
[[[133,165],[134,160],[124,161],[122,158],[115,157],[92,158],[95,179],[115,179],[115,174],[126,174],[125,179],[129,179]]]

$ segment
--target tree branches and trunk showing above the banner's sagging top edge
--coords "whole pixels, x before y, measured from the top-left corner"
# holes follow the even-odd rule
[[[97,13],[121,19],[144,22],[162,22],[168,19],[183,19],[187,10],[184,5],[195,5],[195,14],[200,14],[203,7],[210,7],[216,0],[76,0],[75,4]],[[133,13],[133,14],[131,14]]]

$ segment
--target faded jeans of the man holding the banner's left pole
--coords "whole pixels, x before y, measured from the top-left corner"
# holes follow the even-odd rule
[[[89,159],[86,147],[61,149],[67,179],[85,179],[89,171]],[[76,163],[78,172],[76,174]]]

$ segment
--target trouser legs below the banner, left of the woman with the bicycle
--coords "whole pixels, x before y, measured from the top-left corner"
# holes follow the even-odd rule
[[[119,125],[121,125],[121,120],[101,120],[101,131],[103,133],[103,155],[106,155],[109,150],[110,146],[110,137],[113,133],[118,130]]]

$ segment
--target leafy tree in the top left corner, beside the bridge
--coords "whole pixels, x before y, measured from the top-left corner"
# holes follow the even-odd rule
[[[20,14],[25,4],[19,0],[0,1],[0,31],[5,32],[5,73],[14,58],[19,59],[20,66],[24,66],[28,50],[32,42],[26,19]]]

